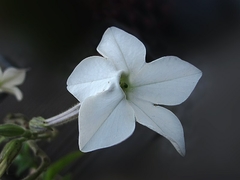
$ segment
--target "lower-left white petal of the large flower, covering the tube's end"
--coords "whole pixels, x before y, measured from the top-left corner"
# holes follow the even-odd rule
[[[134,112],[118,84],[87,98],[79,113],[79,147],[83,152],[118,144],[135,129]]]

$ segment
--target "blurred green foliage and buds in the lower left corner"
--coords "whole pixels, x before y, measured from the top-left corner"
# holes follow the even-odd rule
[[[36,121],[37,119],[37,121]],[[0,125],[0,178],[11,168],[14,176],[23,180],[70,180],[71,174],[60,176],[64,168],[83,154],[72,152],[50,163],[50,158],[37,145],[38,141],[51,141],[56,136],[56,129],[43,128],[44,119],[37,117],[28,120],[22,114],[9,114],[5,124]],[[10,167],[11,166],[11,167]]]

